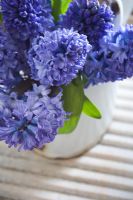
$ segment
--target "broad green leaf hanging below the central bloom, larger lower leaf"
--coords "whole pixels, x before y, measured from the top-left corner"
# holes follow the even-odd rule
[[[64,127],[59,129],[59,133],[71,133],[77,126],[84,103],[84,89],[81,78],[78,77],[69,85],[63,87],[64,110],[70,113]]]

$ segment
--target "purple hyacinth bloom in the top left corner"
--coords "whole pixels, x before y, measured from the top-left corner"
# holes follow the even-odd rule
[[[5,27],[13,38],[27,40],[54,26],[47,0],[1,0]]]

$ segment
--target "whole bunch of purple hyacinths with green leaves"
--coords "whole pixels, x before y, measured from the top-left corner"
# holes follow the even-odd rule
[[[33,150],[72,132],[82,112],[100,118],[84,89],[133,75],[133,26],[115,30],[98,0],[0,6],[0,140]]]

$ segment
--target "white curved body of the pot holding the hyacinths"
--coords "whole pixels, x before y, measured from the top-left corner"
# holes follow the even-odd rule
[[[115,94],[114,83],[87,89],[86,95],[100,109],[102,119],[92,119],[82,114],[76,130],[70,134],[57,135],[54,142],[45,146],[42,154],[50,158],[71,158],[97,144],[111,123]]]

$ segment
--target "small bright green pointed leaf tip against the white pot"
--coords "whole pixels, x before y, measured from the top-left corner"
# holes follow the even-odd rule
[[[96,119],[100,119],[102,117],[98,108],[96,108],[96,106],[86,96],[84,96],[84,104],[82,112]]]

